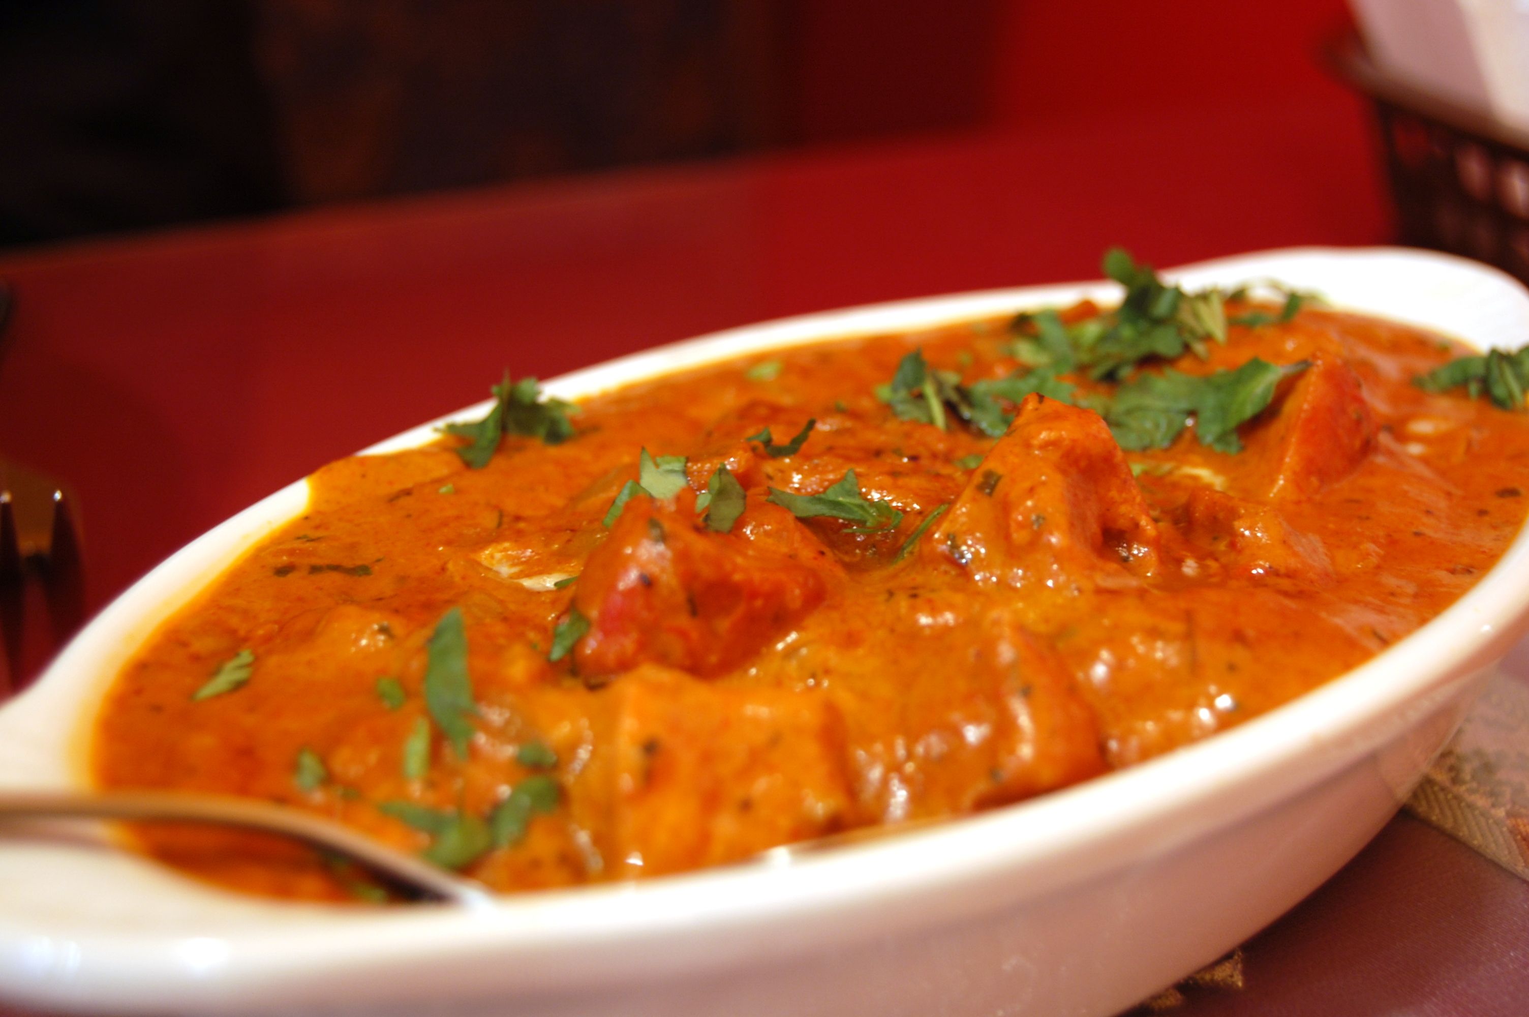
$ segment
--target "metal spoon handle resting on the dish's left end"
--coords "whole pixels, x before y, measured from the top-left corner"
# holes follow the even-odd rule
[[[269,801],[188,791],[0,791],[0,823],[60,818],[211,823],[278,833],[353,863],[413,899],[476,908],[494,901],[476,879],[385,847],[332,820]]]

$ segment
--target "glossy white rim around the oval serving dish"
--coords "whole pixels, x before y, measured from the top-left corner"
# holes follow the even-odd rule
[[[1344,307],[1439,327],[1477,344],[1495,344],[1498,336],[1517,344],[1518,336],[1529,335],[1529,295],[1521,286],[1492,269],[1448,255],[1404,249],[1295,249],[1222,258],[1176,269],[1167,275],[1196,283],[1211,278],[1234,281],[1229,278],[1234,272],[1257,272],[1280,275],[1297,286],[1320,288],[1318,283],[1307,281],[1307,277],[1332,272],[1335,265],[1352,268],[1356,258],[1384,262],[1388,274],[1368,289],[1356,288],[1353,300],[1346,294],[1336,294],[1338,303]],[[1430,284],[1425,284],[1428,280],[1433,280],[1430,284],[1451,292],[1474,284],[1477,295],[1486,297],[1472,304],[1474,317],[1451,318],[1445,323],[1423,320],[1422,315],[1398,314],[1393,303],[1385,303],[1388,295],[1396,294],[1408,295],[1404,304],[1416,303],[1417,294],[1428,291]],[[587,395],[648,372],[657,373],[659,367],[665,372],[683,369],[815,338],[907,330],[910,326],[927,327],[962,317],[1041,306],[1086,294],[1105,295],[1110,289],[1112,284],[1101,283],[1023,288],[806,315],[638,353],[566,375],[549,382],[547,390],[560,396]],[[1382,303],[1375,306],[1372,300]],[[1512,338],[1508,338],[1509,335]],[[442,421],[482,413],[485,405],[479,404]],[[388,451],[427,440],[439,422],[407,431],[367,451]],[[12,777],[20,775],[24,783],[28,772],[41,772],[44,777],[52,777],[54,783],[67,781],[70,778],[67,766],[55,766],[52,771],[47,766],[41,769],[32,766],[28,771],[24,765],[20,769],[5,765],[24,763],[21,749],[52,751],[55,755],[50,759],[57,763],[57,733],[54,743],[47,742],[49,734],[44,731],[41,740],[34,739],[31,743],[18,745],[15,751],[11,745],[12,736],[26,729],[35,731],[37,725],[46,726],[50,716],[67,716],[69,703],[86,702],[92,691],[98,691],[109,681],[113,661],[125,659],[136,647],[136,641],[174,607],[196,595],[197,589],[226,564],[231,554],[239,554],[269,528],[300,511],[304,497],[304,485],[300,482],[251,506],[188,544],[102,612],[66,648],[43,681],[0,710],[0,781],[15,783]],[[1491,658],[1506,650],[1529,610],[1529,589],[1520,589],[1524,587],[1523,580],[1514,581],[1512,577],[1514,570],[1518,575],[1529,573],[1526,566],[1529,566],[1529,544],[1520,534],[1503,561],[1439,619],[1361,668],[1226,736],[1209,739],[1135,771],[1112,774],[1012,809],[852,849],[855,864],[846,863],[847,855],[824,855],[795,866],[784,875],[739,869],[654,881],[638,887],[528,895],[506,902],[488,918],[472,921],[434,910],[382,918],[335,915],[324,910],[315,913],[284,905],[249,907],[246,902],[231,902],[232,895],[187,884],[187,893],[199,898],[200,904],[214,910],[223,908],[237,919],[217,933],[228,948],[216,963],[208,965],[205,957],[191,963],[183,951],[177,953],[173,948],[180,937],[164,930],[148,939],[142,937],[142,930],[113,936],[99,928],[76,928],[70,936],[67,928],[55,925],[52,933],[44,934],[69,939],[76,948],[76,962],[67,965],[67,971],[47,968],[44,973],[17,963],[29,937],[35,947],[40,927],[32,925],[29,933],[12,919],[0,922],[0,957],[12,959],[11,962],[0,959],[0,983],[21,988],[21,982],[31,979],[26,985],[26,997],[31,1002],[69,1005],[70,985],[89,982],[104,989],[109,985],[130,988],[131,983],[142,988],[144,965],[147,965],[153,968],[157,983],[142,996],[144,1005],[164,1005],[165,1000],[177,999],[177,985],[187,986],[208,977],[234,982],[252,977],[255,983],[278,971],[312,977],[321,974],[324,965],[342,967],[346,959],[355,963],[359,957],[362,963],[376,965],[382,959],[399,959],[405,953],[413,956],[420,942],[430,942],[437,950],[517,950],[528,959],[531,956],[546,959],[576,947],[599,954],[602,950],[595,947],[610,950],[618,947],[624,936],[641,930],[656,933],[662,939],[664,930],[685,928],[694,933],[696,928],[711,927],[717,934],[726,936],[751,924],[795,921],[807,915],[823,918],[824,910],[884,907],[894,898],[907,901],[910,895],[916,898],[942,889],[950,890],[953,881],[959,882],[963,875],[972,872],[991,872],[1005,866],[1035,867],[1046,858],[1055,863],[1060,853],[1070,852],[1067,864],[1052,864],[1050,878],[1037,887],[1037,892],[1057,890],[1066,885],[1067,879],[1084,878],[1090,866],[1096,872],[1099,866],[1119,863],[1118,858],[1110,858],[1109,852],[1089,855],[1086,847],[1101,837],[1162,826],[1154,820],[1161,820],[1165,814],[1193,814],[1206,801],[1232,801],[1240,806],[1240,811],[1234,809],[1229,814],[1200,815],[1197,823],[1164,832],[1148,844],[1151,850],[1173,850],[1187,838],[1203,837],[1280,795],[1290,795],[1300,786],[1320,780],[1324,772],[1352,762],[1387,737],[1394,737],[1398,725],[1405,729],[1407,717],[1387,719],[1388,710],[1398,707],[1408,707],[1414,713],[1425,710],[1430,697],[1446,694]],[[153,607],[139,606],[139,601],[148,601]],[[1459,639],[1462,635],[1463,642]],[[1346,719],[1349,726],[1333,731],[1333,717]],[[1286,765],[1283,769],[1281,763]],[[1271,777],[1271,769],[1278,772]],[[1212,775],[1209,780],[1205,778],[1206,772]],[[1264,780],[1258,795],[1237,795],[1238,783],[1248,780],[1249,774],[1271,778]],[[1046,830],[1037,833],[1034,827]],[[908,875],[910,866],[916,878],[901,885],[888,885],[888,873]],[[720,904],[722,899],[728,904]],[[924,921],[936,921],[940,911],[940,908],[930,910]],[[271,927],[261,931],[268,919]],[[827,922],[824,928],[833,925]],[[336,942],[341,941],[344,945],[336,953]],[[41,980],[37,980],[40,977]],[[118,1000],[128,1002],[121,996]]]

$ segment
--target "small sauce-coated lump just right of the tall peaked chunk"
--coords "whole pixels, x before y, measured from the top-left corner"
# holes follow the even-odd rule
[[[1332,580],[1323,541],[1292,529],[1269,505],[1197,488],[1185,503],[1185,535],[1209,551],[1228,575]]]

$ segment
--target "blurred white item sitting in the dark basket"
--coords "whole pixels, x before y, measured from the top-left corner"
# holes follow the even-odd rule
[[[1350,0],[1370,55],[1410,84],[1529,132],[1529,0]]]

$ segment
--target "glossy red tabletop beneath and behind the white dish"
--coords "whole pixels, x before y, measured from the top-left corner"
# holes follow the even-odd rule
[[[1053,122],[295,214],[0,260],[0,454],[83,500],[99,607],[320,463],[488,395],[780,315],[1388,237],[1362,110]],[[1165,930],[1171,934],[1171,930]],[[1185,1014],[1511,1014],[1529,889],[1413,820]]]

